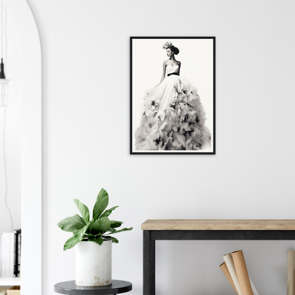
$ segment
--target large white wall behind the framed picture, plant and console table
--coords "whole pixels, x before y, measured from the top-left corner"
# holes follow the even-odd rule
[[[74,279],[56,223],[93,206],[134,230],[113,278],[142,294],[147,218],[294,218],[294,1],[29,0],[43,47],[43,294]],[[216,155],[129,155],[129,37],[216,36]],[[157,294],[234,294],[219,265],[243,249],[260,294],[286,294],[293,241],[160,242]]]

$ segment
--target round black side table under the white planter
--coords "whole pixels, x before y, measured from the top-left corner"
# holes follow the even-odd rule
[[[55,292],[68,295],[116,295],[132,290],[132,284],[126,281],[113,279],[113,284],[108,286],[77,286],[75,281],[55,284]]]

